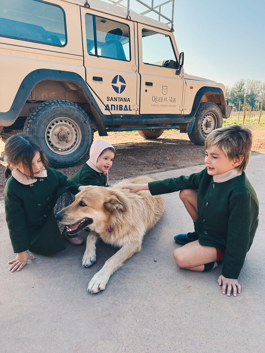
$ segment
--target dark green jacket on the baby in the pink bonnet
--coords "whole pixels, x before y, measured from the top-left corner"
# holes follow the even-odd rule
[[[106,175],[103,172],[96,172],[87,163],[77,173],[73,174],[69,180],[82,185],[106,186],[107,183]]]

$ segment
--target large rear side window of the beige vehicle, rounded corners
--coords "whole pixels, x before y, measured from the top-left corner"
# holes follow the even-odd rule
[[[39,0],[1,0],[0,36],[64,46],[64,11]]]

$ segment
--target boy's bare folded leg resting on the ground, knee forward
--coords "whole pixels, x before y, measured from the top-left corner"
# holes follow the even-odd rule
[[[199,240],[175,249],[173,256],[178,267],[199,272],[204,270],[204,264],[217,259],[216,248],[201,245]]]

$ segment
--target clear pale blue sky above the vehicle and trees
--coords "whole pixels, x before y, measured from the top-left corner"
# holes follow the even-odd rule
[[[154,0],[154,5],[163,2]],[[134,0],[130,8],[144,11]],[[174,36],[184,52],[185,73],[230,87],[241,78],[265,82],[265,0],[175,0],[174,8]],[[171,5],[164,9],[171,18]]]

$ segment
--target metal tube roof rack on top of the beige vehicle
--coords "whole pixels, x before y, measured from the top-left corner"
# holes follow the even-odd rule
[[[121,4],[123,1],[126,1],[126,0],[117,0],[117,1],[114,1],[114,0],[107,0],[109,2],[111,2],[113,5],[118,5],[118,6],[122,6],[124,8],[126,8],[126,6],[124,6],[123,4]],[[159,5],[155,5],[154,6],[154,0],[151,1],[151,6],[149,6],[148,4],[146,4],[145,2],[141,1],[141,0],[134,0],[134,1],[137,1],[139,2],[139,4],[147,7],[148,10],[144,11],[144,12],[141,12],[140,14],[141,15],[145,15],[149,12],[154,12],[158,15],[158,20],[160,21],[160,18],[163,17],[167,22],[166,24],[171,24],[171,31],[173,32],[174,29],[173,29],[173,17],[174,17],[174,1],[175,0],[167,0]],[[171,13],[171,19],[168,18],[167,16],[165,16],[162,12],[161,12],[161,8],[163,5],[166,5],[166,4],[170,4],[170,2],[172,2],[172,13]],[[130,19],[130,0],[127,0],[127,18]]]

